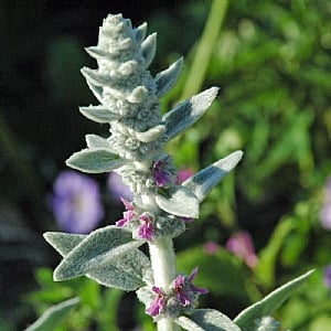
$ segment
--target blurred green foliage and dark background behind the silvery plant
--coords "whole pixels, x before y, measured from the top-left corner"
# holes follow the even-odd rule
[[[67,156],[83,147],[84,134],[107,129],[75,109],[95,103],[78,73],[90,61],[83,46],[96,42],[96,26],[116,10],[134,23],[146,20],[149,32],[158,31],[154,73],[185,55],[183,73],[162,100],[163,109],[203,88],[221,87],[204,117],[169,146],[177,166],[197,171],[235,149],[245,152],[235,173],[202,204],[201,220],[175,243],[179,270],[190,273],[199,265],[196,284],[211,290],[202,306],[234,317],[276,286],[316,268],[305,291],[290,298],[276,317],[291,330],[328,330],[330,289],[322,270],[331,263],[331,241],[320,226],[319,211],[331,174],[331,2],[241,0],[215,12],[210,9],[223,1],[169,1],[164,7],[157,1],[148,14],[117,2],[113,7],[100,1],[99,12],[89,1],[68,1],[66,8],[36,2],[35,11],[26,3],[21,9],[11,4],[21,20],[6,30],[4,45],[12,55],[1,54],[3,82],[9,83],[0,113],[0,248],[6,270],[0,286],[2,295],[8,293],[0,300],[8,300],[8,307],[0,303],[0,329],[15,330],[50,305],[74,296],[82,303],[56,331],[116,330],[124,320],[129,324],[120,330],[131,330],[135,323],[153,329],[132,297],[102,289],[89,279],[55,284],[51,269],[36,270],[58,260],[41,243],[43,231],[56,228],[45,207],[52,180]],[[45,13],[50,21],[42,19]],[[196,82],[190,84],[192,79]],[[114,215],[115,206],[107,197],[105,202],[105,222],[113,223],[118,212]],[[203,252],[205,242],[224,245],[238,228],[254,238],[259,256],[255,269],[223,248],[214,255]],[[38,245],[39,253],[29,253],[29,243]],[[21,255],[10,254],[12,247]],[[21,275],[11,279],[19,273],[17,264]],[[17,288],[9,289],[14,284]],[[38,291],[28,295],[32,288]],[[122,307],[130,307],[129,313]]]

